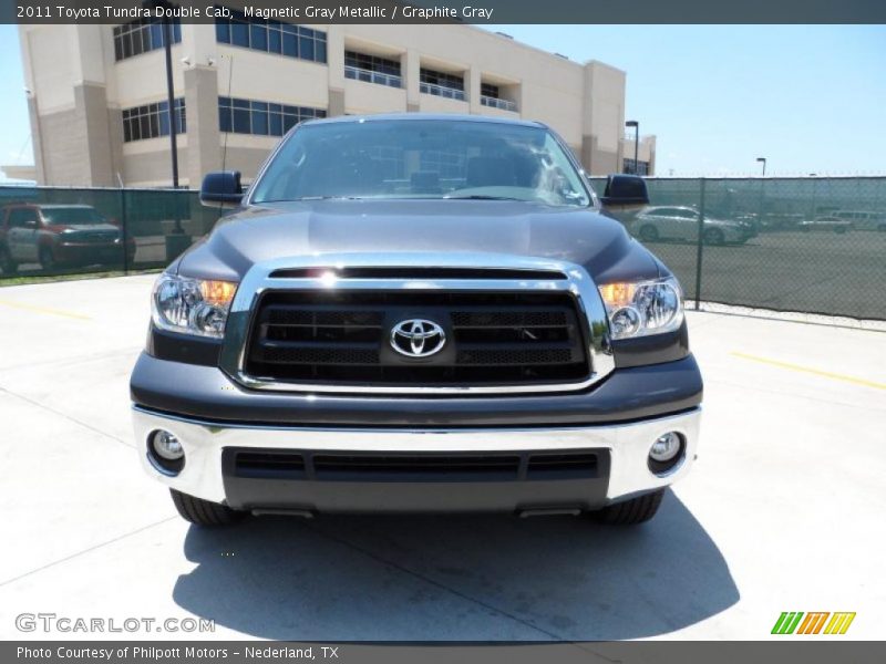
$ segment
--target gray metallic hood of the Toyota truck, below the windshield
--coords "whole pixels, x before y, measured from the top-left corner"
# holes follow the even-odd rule
[[[311,200],[219,219],[172,269],[239,281],[257,262],[315,253],[490,252],[578,263],[598,282],[652,279],[660,263],[586,208],[502,200]]]

